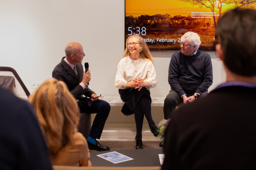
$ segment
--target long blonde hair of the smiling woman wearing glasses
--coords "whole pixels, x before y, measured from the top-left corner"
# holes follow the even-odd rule
[[[141,51],[140,51],[140,57],[142,58],[142,59],[150,59],[151,60],[151,62],[154,64],[154,62],[153,62],[153,59],[152,59],[152,56],[151,56],[151,54],[150,54],[150,52],[149,52],[149,50],[148,50],[148,45],[147,45],[147,43],[143,40],[143,38],[142,37],[140,37],[139,35],[136,35],[136,34],[133,34],[133,35],[131,35],[131,36],[129,36],[128,38],[127,38],[127,40],[126,40],[126,48],[125,48],[125,54],[124,54],[124,56],[123,56],[123,58],[124,57],[127,57],[127,56],[131,56],[131,53],[130,53],[130,51],[129,51],[129,48],[128,48],[128,41],[130,40],[130,38],[133,38],[133,37],[136,37],[136,38],[138,38],[139,40],[138,40],[138,42],[140,43],[140,44],[142,44],[142,49],[141,49]]]

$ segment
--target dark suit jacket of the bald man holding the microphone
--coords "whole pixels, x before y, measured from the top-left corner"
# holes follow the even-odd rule
[[[79,99],[84,96],[90,97],[92,94],[95,94],[93,91],[88,88],[83,89],[79,83],[82,81],[84,76],[84,69],[81,63],[76,63],[76,70],[78,76],[76,76],[75,71],[64,61],[63,57],[61,62],[55,66],[52,71],[52,77],[58,80],[61,80],[67,84],[67,88],[69,89],[70,93],[76,98]]]

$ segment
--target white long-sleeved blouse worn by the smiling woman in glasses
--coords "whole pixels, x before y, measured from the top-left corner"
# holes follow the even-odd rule
[[[134,60],[131,59],[131,57],[129,56],[124,57],[119,61],[117,65],[116,79],[114,85],[116,88],[125,89],[126,82],[131,82],[138,77],[140,77],[140,79],[143,79],[144,82],[150,83],[150,86],[147,88],[148,90],[156,87],[157,85],[156,71],[150,59],[140,58]]]

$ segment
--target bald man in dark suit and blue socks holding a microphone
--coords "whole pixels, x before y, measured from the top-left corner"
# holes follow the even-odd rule
[[[65,54],[66,56],[53,69],[52,77],[67,84],[70,93],[77,99],[81,113],[97,113],[87,139],[89,149],[110,150],[109,147],[102,146],[96,140],[100,139],[110,112],[110,105],[104,100],[99,100],[99,96],[87,86],[91,74],[90,71],[84,71],[81,64],[85,56],[84,49],[80,43],[70,42],[65,48]]]

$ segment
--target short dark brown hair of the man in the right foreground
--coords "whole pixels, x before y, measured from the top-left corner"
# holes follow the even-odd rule
[[[235,74],[256,76],[256,11],[235,8],[218,20],[216,35],[221,40],[223,62]]]

